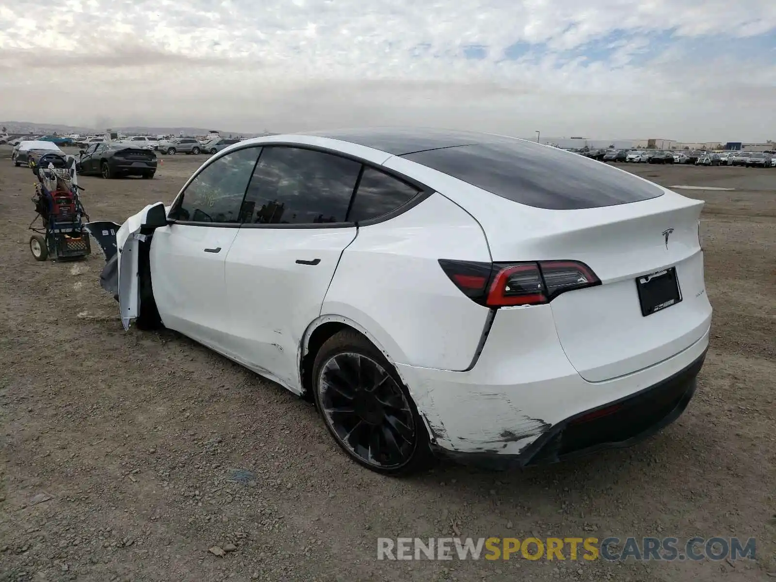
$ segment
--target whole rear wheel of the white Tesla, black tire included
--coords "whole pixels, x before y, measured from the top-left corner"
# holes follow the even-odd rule
[[[342,372],[347,368],[356,375]],[[372,379],[372,390],[362,385],[364,377]],[[332,387],[335,383],[336,389]],[[434,457],[428,433],[407,387],[362,334],[344,330],[324,342],[315,356],[312,390],[327,430],[359,465],[393,476],[431,466]],[[337,408],[348,412],[334,412]],[[355,445],[351,437],[358,439]]]

